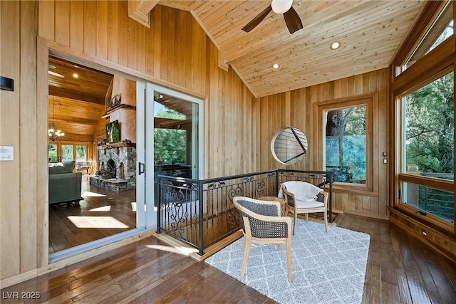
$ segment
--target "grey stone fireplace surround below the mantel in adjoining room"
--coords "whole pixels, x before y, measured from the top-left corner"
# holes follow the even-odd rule
[[[135,147],[105,147],[98,151],[98,164],[107,164],[109,159],[115,163],[115,178],[120,179],[120,164],[123,163],[124,180],[127,189],[136,189],[136,149]]]

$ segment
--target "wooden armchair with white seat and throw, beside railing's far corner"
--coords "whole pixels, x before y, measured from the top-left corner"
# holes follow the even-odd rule
[[[307,196],[299,193],[299,189],[308,192]],[[296,219],[298,214],[306,214],[306,221],[309,221],[309,213],[323,212],[325,221],[325,231],[328,232],[328,192],[309,184],[307,182],[290,181],[281,185],[281,191],[284,193],[287,211],[294,214],[293,234],[296,231]],[[315,191],[315,192],[314,192]],[[309,193],[314,193],[316,198]]]

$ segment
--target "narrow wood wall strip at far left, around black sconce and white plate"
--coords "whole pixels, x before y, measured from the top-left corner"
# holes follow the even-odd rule
[[[14,160],[0,162],[0,278],[21,269],[20,2],[0,1],[1,75],[14,79],[14,91],[0,90],[0,145],[14,147]],[[11,120],[10,117],[15,117]],[[5,123],[8,122],[8,123]]]

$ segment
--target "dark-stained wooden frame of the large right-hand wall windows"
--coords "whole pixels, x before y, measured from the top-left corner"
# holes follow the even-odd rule
[[[391,62],[391,130],[390,138],[393,139],[390,147],[390,154],[393,162],[390,165],[390,208],[397,209],[406,216],[429,226],[438,227],[440,231],[456,233],[456,226],[448,221],[433,216],[432,214],[422,215],[413,206],[404,204],[401,201],[401,183],[412,182],[414,184],[442,189],[455,192],[455,182],[451,180],[435,179],[432,177],[420,177],[413,174],[403,173],[403,101],[402,96],[412,93],[419,88],[431,83],[443,75],[454,72],[456,66],[455,53],[455,33],[437,47],[432,49],[422,58],[418,59],[413,65],[408,67],[403,73],[395,75],[398,65],[402,65],[410,53],[418,45],[421,37],[430,28],[435,18],[440,15],[440,11],[445,6],[446,1],[430,1],[425,4],[423,14],[419,17],[410,34],[405,38],[404,43],[398,48],[395,58]],[[454,4],[453,4],[454,5]],[[453,21],[456,9],[453,6]],[[454,144],[453,144],[454,145]],[[456,199],[456,198],[455,198]],[[454,203],[454,202],[453,202]],[[456,209],[455,209],[456,216]],[[443,233],[445,233],[443,232]]]

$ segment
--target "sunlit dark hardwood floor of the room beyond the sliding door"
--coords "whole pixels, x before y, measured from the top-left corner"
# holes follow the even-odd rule
[[[136,227],[135,190],[109,191],[90,186],[83,175],[79,204],[49,206],[49,253],[68,249]]]

